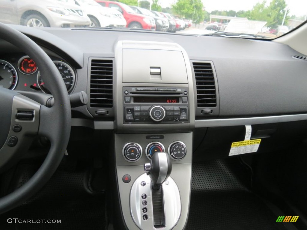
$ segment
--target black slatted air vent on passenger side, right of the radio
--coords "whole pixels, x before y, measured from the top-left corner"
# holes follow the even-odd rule
[[[216,86],[211,63],[193,62],[197,107],[216,107]]]

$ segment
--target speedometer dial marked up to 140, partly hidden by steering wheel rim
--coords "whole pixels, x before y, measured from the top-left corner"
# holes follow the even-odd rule
[[[65,62],[53,61],[53,63],[56,65],[56,68],[60,72],[64,80],[65,86],[67,88],[67,91],[70,92],[75,83],[75,72],[73,71],[72,67],[70,67]],[[48,86],[46,86],[44,82],[44,77],[41,76],[41,73],[39,71],[37,74],[37,82],[38,82],[38,86],[41,88],[43,92],[50,94],[50,91],[48,90]]]

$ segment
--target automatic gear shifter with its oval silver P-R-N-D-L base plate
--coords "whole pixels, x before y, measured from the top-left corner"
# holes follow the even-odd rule
[[[156,152],[144,170],[146,173],[134,181],[130,191],[132,219],[140,229],[172,229],[181,215],[181,200],[178,187],[169,176],[169,155]]]

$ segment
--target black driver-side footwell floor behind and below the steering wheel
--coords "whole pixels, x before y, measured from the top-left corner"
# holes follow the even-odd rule
[[[24,184],[36,170],[37,167],[31,164],[19,164],[12,182],[14,188]],[[0,215],[0,229],[105,229],[106,195],[103,191],[91,192],[88,189],[90,177],[91,173],[86,166],[78,169],[60,167],[49,182],[24,205]],[[44,222],[60,220],[60,223],[43,223],[42,220]]]

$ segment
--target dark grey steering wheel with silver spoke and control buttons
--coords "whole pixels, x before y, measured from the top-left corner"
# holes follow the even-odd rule
[[[0,198],[1,214],[32,197],[59,166],[69,140],[71,107],[64,81],[49,56],[19,31],[2,23],[0,31],[0,39],[33,58],[54,97],[54,105],[48,108],[13,90],[0,87],[0,171],[16,163],[29,148],[34,136],[42,135],[50,140],[49,152],[33,177],[17,190]]]

